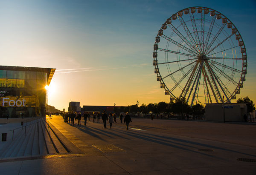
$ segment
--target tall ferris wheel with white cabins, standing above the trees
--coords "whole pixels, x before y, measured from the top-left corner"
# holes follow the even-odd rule
[[[190,106],[231,103],[247,74],[247,55],[236,26],[206,7],[189,7],[169,17],[158,31],[154,73],[170,100],[184,97]],[[225,98],[224,98],[225,97]]]

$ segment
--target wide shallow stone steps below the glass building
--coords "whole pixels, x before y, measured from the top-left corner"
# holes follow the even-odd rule
[[[14,132],[14,139],[0,149],[0,159],[67,153],[45,120],[34,120]]]

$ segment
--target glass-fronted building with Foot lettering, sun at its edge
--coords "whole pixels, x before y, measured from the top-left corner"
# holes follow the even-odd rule
[[[0,66],[0,117],[45,117],[55,69]]]

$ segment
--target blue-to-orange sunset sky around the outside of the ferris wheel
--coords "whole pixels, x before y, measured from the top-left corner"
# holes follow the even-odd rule
[[[1,0],[0,64],[55,68],[48,104],[56,109],[70,101],[169,102],[154,74],[154,40],[168,17],[192,6],[215,9],[236,25],[248,63],[236,98],[256,103],[255,0]]]

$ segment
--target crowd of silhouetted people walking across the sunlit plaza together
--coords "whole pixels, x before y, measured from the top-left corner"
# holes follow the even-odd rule
[[[74,125],[74,121],[77,120],[78,121],[78,125],[81,125],[81,112],[77,113],[77,112],[63,112],[62,117],[64,119],[65,123],[70,123],[71,120],[71,125]],[[93,123],[96,123],[96,118],[97,118],[97,123],[100,123],[100,113],[99,112],[84,112],[83,114],[84,117],[84,126],[86,126],[87,121],[90,121],[90,117],[93,118]],[[107,128],[107,120],[110,124],[110,128],[112,128],[112,123],[117,123],[116,122],[116,114],[115,113],[109,113],[109,115],[106,113],[106,111],[103,111],[102,115],[101,115],[102,121],[103,121],[103,125],[104,128]],[[119,115],[119,119],[120,119],[120,123],[122,123],[123,121],[123,115],[122,113]],[[128,129],[129,127],[129,123],[131,122],[131,117],[129,115],[128,112],[126,112],[125,117],[124,117],[124,123],[126,123],[126,129]]]

